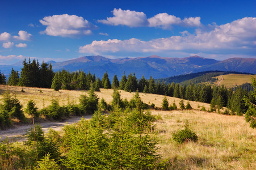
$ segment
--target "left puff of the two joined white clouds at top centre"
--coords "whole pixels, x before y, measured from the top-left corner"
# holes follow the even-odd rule
[[[128,27],[144,27],[149,24],[144,12],[136,12],[130,10],[118,10],[114,8],[112,11],[113,17],[107,20],[98,20],[98,22],[110,25],[127,25]]]

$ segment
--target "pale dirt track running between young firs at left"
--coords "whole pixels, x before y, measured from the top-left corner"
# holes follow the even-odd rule
[[[56,131],[61,131],[63,126],[74,124],[75,122],[80,121],[81,118],[82,117],[72,117],[62,122],[44,122],[40,125],[43,127],[43,131],[48,131],[49,128],[52,128]],[[83,118],[90,119],[91,116],[83,116]],[[5,140],[6,138],[8,138],[10,142],[25,141],[26,138],[24,138],[24,134],[28,129],[31,128],[31,126],[32,125],[16,125],[11,129],[0,130],[0,141]]]

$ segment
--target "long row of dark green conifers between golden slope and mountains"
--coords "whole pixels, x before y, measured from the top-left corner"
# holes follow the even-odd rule
[[[4,79],[2,77],[0,74],[0,80]],[[4,80],[2,82],[3,84],[5,83]],[[35,59],[33,61],[28,59],[28,62],[24,59],[23,68],[20,73],[12,69],[8,84],[12,86],[53,88],[56,91],[89,90],[91,84],[94,91],[100,91],[100,88],[113,88],[128,92],[138,90],[145,94],[166,95],[190,101],[209,103],[211,104],[211,111],[220,111],[223,107],[227,107],[231,113],[226,112],[226,114],[238,115],[245,113],[248,109],[243,100],[244,96],[251,99],[252,103],[255,104],[252,91],[247,91],[248,88],[245,90],[244,86],[237,87],[235,90],[232,88],[226,89],[224,86],[194,84],[191,82],[182,86],[174,82],[156,81],[152,76],[150,76],[150,79],[145,79],[142,75],[142,78],[137,79],[135,73],[125,75],[125,72],[120,81],[117,75],[115,75],[111,83],[107,71],[102,79],[99,76],[96,78],[95,74],[92,75],[90,72],[86,74],[82,70],[70,72],[63,69],[54,73],[51,64],[43,62],[39,65]]]

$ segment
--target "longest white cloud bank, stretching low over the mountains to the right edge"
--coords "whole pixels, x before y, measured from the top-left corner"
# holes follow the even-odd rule
[[[142,41],[139,39],[93,41],[79,47],[80,53],[110,54],[117,52],[171,52],[192,50],[214,52],[215,50],[254,50],[256,18],[242,18],[232,23],[216,26],[212,31],[200,31],[182,36]]]

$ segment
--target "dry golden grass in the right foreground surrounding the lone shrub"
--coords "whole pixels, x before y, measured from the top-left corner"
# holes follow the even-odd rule
[[[242,116],[203,111],[152,111],[162,120],[156,124],[160,154],[169,169],[256,169],[256,131]],[[199,136],[197,143],[178,145],[173,131],[190,122]]]

